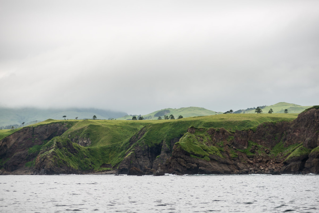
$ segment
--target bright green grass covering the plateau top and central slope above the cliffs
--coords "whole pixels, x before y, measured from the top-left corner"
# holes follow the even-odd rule
[[[67,125],[68,130],[60,137],[28,148],[29,153],[40,154],[41,159],[55,153],[60,159],[57,163],[70,166],[76,170],[106,171],[115,168],[124,158],[133,153],[138,144],[154,147],[174,138],[181,138],[187,129],[225,128],[229,131],[256,129],[263,122],[292,121],[298,114],[218,114],[210,116],[189,117],[176,120],[46,120],[25,128],[33,128],[53,123]],[[0,137],[12,134],[15,130],[0,130]],[[143,131],[143,136],[138,137]],[[133,140],[133,139],[134,140]],[[2,138],[0,138],[2,139]],[[31,139],[31,140],[37,140]],[[72,142],[89,141],[88,146],[80,146]],[[132,142],[134,141],[134,142]],[[64,146],[73,147],[74,153]],[[53,152],[52,152],[53,151]],[[46,157],[47,156],[47,157]],[[26,166],[34,166],[35,159],[30,159]],[[52,159],[57,159],[52,158]],[[0,159],[5,162],[8,159]],[[1,163],[2,165],[2,163]],[[0,166],[1,166],[0,165]]]

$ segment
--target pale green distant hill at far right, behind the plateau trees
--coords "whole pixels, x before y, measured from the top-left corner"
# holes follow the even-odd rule
[[[272,109],[274,112],[273,113],[284,113],[285,109],[288,110],[288,113],[301,113],[302,111],[304,111],[305,109],[308,109],[309,107],[312,106],[300,106],[297,104],[290,104],[290,103],[286,103],[286,102],[279,102],[277,104],[274,105],[270,105],[270,106],[259,106],[259,108],[261,108],[263,110],[263,113],[268,113],[268,111],[270,109]],[[235,111],[235,114],[238,113],[255,113],[255,107],[252,108],[247,108],[247,109],[240,109]]]

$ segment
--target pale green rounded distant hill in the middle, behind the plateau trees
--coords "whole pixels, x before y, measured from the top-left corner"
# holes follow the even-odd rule
[[[143,116],[145,120],[157,120],[158,117],[162,117],[164,119],[164,115],[174,115],[175,119],[178,118],[179,115],[182,115],[184,118],[186,117],[194,117],[194,116],[205,116],[205,115],[214,115],[214,114],[221,114],[221,112],[211,111],[202,107],[182,107],[179,109],[167,108],[157,110],[150,114],[146,115],[135,115],[136,117]],[[126,115],[121,118],[117,118],[117,120],[129,120],[132,119],[134,115]]]

